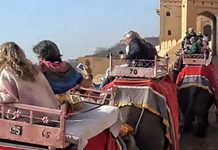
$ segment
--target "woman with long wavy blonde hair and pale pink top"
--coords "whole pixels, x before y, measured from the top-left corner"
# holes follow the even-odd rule
[[[0,46],[0,103],[58,108],[59,102],[38,67],[14,42]]]

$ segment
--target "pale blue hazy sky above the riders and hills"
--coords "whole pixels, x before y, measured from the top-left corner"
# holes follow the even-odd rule
[[[127,30],[159,35],[159,0],[0,0],[0,43],[17,42],[34,60],[33,45],[49,39],[64,58],[110,47]]]

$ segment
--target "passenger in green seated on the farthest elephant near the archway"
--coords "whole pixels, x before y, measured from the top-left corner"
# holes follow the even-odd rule
[[[192,44],[191,48],[186,51],[186,54],[200,54],[201,53],[201,46],[198,43],[198,39],[196,37],[192,37],[190,39]]]

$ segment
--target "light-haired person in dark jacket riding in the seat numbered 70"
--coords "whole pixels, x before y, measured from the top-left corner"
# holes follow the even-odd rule
[[[126,60],[127,65],[121,65],[120,67],[133,66],[132,61],[136,63],[134,67],[151,67],[153,63],[150,63],[149,60],[154,60],[157,55],[156,48],[146,42],[140,37],[140,35],[135,31],[128,31],[124,34],[123,42],[126,44],[126,54],[120,51],[120,59]],[[140,62],[140,59],[147,61]],[[103,88],[106,84],[110,82],[108,77],[109,69],[107,69],[103,81],[99,88]]]

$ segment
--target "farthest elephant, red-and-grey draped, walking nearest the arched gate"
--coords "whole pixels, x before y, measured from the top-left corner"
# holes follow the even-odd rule
[[[184,131],[193,129],[196,136],[204,137],[208,125],[208,111],[215,102],[217,89],[214,65],[185,66],[176,83]]]

